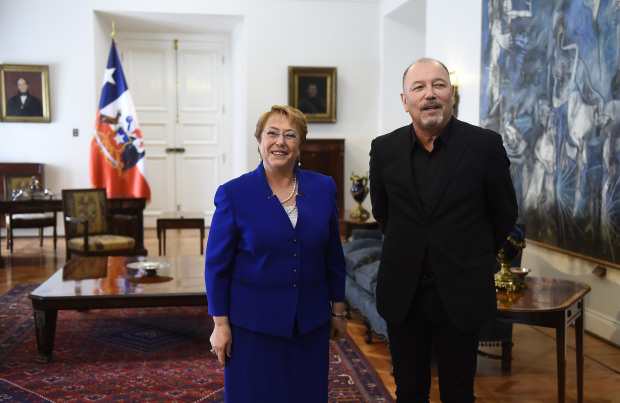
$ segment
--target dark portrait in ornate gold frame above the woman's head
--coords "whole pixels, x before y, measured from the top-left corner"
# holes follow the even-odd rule
[[[336,123],[336,67],[288,68],[288,104],[306,115],[306,120]]]

